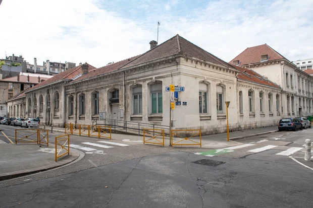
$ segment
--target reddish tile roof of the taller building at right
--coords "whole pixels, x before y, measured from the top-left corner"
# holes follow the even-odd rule
[[[277,60],[277,59],[288,60],[287,58],[282,56],[280,53],[278,53],[276,50],[274,50],[267,44],[264,44],[264,45],[253,46],[253,47],[245,49],[239,55],[237,55],[235,58],[229,61],[229,63],[233,64],[234,60],[239,60],[239,66],[243,66],[243,65],[251,64],[251,63],[259,63],[262,55],[268,55],[269,61]]]

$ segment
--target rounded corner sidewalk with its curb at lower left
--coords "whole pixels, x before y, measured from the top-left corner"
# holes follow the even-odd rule
[[[64,166],[83,158],[84,153],[70,149],[70,155],[55,161],[55,146],[49,144],[0,144],[0,181]]]

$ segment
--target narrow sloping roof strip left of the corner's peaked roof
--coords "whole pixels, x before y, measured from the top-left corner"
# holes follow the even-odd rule
[[[87,74],[77,78],[74,82],[80,81],[80,80],[84,80],[84,79],[88,79],[91,77],[96,77],[98,75],[102,75],[102,74],[106,74],[112,71],[116,71],[119,70],[122,66],[124,66],[125,64],[131,62],[132,60],[134,60],[135,58],[137,58],[139,55],[131,57],[131,58],[127,58],[125,60],[121,60],[119,62],[116,63],[112,63],[110,65],[106,65],[106,66],[102,66],[100,68],[96,68],[94,71],[89,71]]]

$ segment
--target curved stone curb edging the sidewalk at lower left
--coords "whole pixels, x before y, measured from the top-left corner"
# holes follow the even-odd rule
[[[53,145],[53,144],[51,144],[51,145]],[[57,169],[57,168],[60,168],[62,166],[76,163],[76,162],[80,161],[81,159],[83,159],[84,156],[85,156],[84,152],[76,150],[76,149],[71,149],[70,157],[67,158],[68,156],[65,156],[63,160],[59,161],[62,163],[59,163],[58,165],[53,164],[53,165],[29,169],[26,171],[15,171],[15,172],[11,172],[11,173],[0,174],[0,181],[18,178],[18,177],[22,177],[22,176],[26,176],[26,175],[31,175],[34,173],[44,172],[47,170]],[[76,158],[73,160],[72,157],[76,157]],[[58,162],[56,162],[56,163],[58,163]]]

